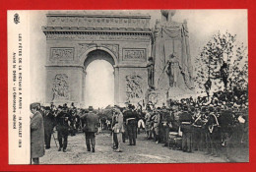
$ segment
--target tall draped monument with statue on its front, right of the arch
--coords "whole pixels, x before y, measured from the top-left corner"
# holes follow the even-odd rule
[[[156,23],[155,48],[158,85],[161,89],[178,86],[182,89],[193,89],[192,64],[189,50],[187,23],[172,21],[174,10],[161,10],[161,24]],[[168,84],[164,81],[168,80]],[[165,86],[167,85],[167,86]]]

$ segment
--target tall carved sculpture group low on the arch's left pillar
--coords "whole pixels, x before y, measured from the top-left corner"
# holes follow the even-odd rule
[[[68,98],[68,76],[66,74],[57,74],[53,81],[52,100]]]

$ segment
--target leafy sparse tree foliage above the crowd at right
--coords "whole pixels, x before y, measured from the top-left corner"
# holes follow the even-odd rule
[[[247,46],[236,41],[236,35],[220,31],[202,48],[195,59],[195,83],[197,92],[205,91],[205,83],[210,78],[212,91],[224,89],[221,67],[227,64],[227,89],[245,90],[248,86]]]

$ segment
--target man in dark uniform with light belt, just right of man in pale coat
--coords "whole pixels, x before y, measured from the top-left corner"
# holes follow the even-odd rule
[[[133,105],[128,105],[128,110],[124,112],[124,121],[127,125],[127,131],[129,136],[129,145],[136,145],[136,130],[138,115],[133,111]]]

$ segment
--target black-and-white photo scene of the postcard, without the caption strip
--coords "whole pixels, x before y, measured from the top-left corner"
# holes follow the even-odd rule
[[[247,10],[27,13],[31,164],[249,161]]]

